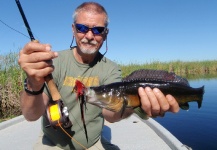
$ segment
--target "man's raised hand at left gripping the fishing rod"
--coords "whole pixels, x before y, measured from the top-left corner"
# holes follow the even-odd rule
[[[18,63],[26,72],[28,84],[33,91],[38,91],[43,86],[44,77],[54,71],[52,59],[58,56],[51,51],[49,44],[29,42],[19,53]]]

